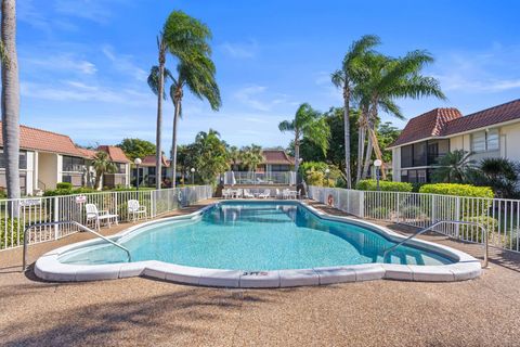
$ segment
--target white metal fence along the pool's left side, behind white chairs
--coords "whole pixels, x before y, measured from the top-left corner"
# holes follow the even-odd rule
[[[23,245],[24,229],[30,224],[58,220],[75,220],[86,224],[84,204],[95,204],[99,210],[107,210],[118,215],[119,221],[128,221],[131,219],[127,206],[129,200],[139,201],[153,218],[211,196],[210,185],[196,185],[139,192],[116,191],[2,200],[0,201],[0,250]],[[78,229],[74,226],[37,227],[28,232],[27,241],[31,244],[57,240],[77,231]]]

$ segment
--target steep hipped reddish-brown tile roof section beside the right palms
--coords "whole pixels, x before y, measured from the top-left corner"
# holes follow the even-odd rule
[[[420,116],[410,119],[391,146],[418,141],[441,134],[444,126],[453,120],[463,117],[457,108],[434,108]]]

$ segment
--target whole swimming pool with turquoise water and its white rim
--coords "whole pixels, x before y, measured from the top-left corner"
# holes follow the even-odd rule
[[[88,280],[93,270],[102,270],[93,279],[139,272],[177,282],[198,279],[195,284],[203,285],[211,282],[200,281],[208,277],[217,279],[212,281],[217,284],[208,285],[222,286],[280,286],[284,274],[295,285],[392,274],[403,280],[424,280],[427,274],[456,280],[453,269],[461,267],[471,270],[466,278],[480,274],[477,259],[418,240],[384,259],[385,249],[402,236],[360,220],[324,215],[299,202],[222,202],[185,217],[131,228],[114,239],[130,250],[131,262],[120,248],[95,240],[58,249],[54,265],[74,272],[74,280]],[[41,270],[46,278],[38,266],[37,274]],[[70,273],[64,278],[69,280]]]

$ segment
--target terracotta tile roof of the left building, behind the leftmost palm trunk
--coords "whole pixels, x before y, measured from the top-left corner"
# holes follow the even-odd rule
[[[2,123],[0,121],[0,143],[3,144]],[[24,150],[52,152],[83,157],[69,137],[52,131],[20,126],[20,146]]]

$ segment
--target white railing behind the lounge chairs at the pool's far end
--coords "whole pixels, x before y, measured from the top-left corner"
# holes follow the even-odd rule
[[[295,185],[296,172],[294,171],[271,171],[271,172],[246,172],[246,171],[227,171],[223,175],[224,184],[240,185]]]

